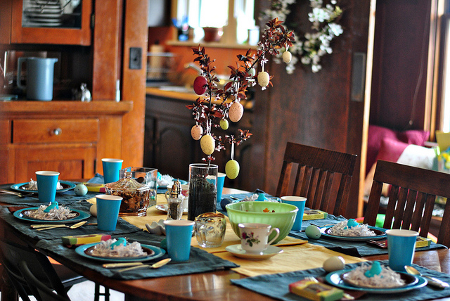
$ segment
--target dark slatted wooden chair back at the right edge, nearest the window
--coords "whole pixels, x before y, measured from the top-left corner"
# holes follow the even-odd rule
[[[411,229],[427,237],[437,196],[450,198],[450,174],[378,160],[364,224],[375,226],[383,184],[390,184],[385,229]],[[450,202],[446,202],[437,242],[450,247]]]

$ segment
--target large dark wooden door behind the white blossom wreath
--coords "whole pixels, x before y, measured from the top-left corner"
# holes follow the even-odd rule
[[[353,53],[367,49],[369,4],[368,0],[340,1],[344,13],[339,22],[344,34],[332,42],[333,54],[323,56],[321,71],[313,73],[309,66],[298,63],[288,75],[284,65],[269,63],[274,87],[257,89],[255,96],[252,160],[261,164],[251,172],[254,188],[276,192],[288,141],[360,155],[364,105],[352,102],[350,91]],[[293,20],[307,20],[303,17],[311,9],[309,2],[303,1],[290,8]],[[304,31],[309,27],[308,22],[301,24]],[[349,216],[356,215],[358,181],[356,175]]]

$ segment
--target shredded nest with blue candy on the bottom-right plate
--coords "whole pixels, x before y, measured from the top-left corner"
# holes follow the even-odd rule
[[[342,278],[353,286],[366,288],[398,288],[406,284],[399,273],[381,265],[378,261],[373,264],[362,264],[345,273]]]

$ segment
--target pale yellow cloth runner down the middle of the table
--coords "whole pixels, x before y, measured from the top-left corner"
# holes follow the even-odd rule
[[[96,203],[96,198],[88,200],[89,203]],[[167,203],[165,196],[158,194],[157,205]],[[166,219],[167,213],[162,212],[155,208],[155,206],[149,207],[147,215],[145,217],[122,217],[130,224],[134,224],[141,229],[147,230],[146,224],[152,222],[158,222],[160,219]],[[183,218],[186,218],[184,215]],[[278,247],[283,247],[281,254],[270,257],[267,260],[245,260],[233,256],[230,252],[226,252],[225,248],[228,245],[240,244],[240,239],[234,233],[231,228],[228,217],[226,218],[226,233],[224,243],[218,248],[201,248],[195,236],[192,238],[191,245],[196,248],[201,248],[207,252],[214,253],[225,260],[229,260],[240,267],[234,268],[233,271],[243,274],[245,276],[257,276],[262,274],[276,274],[285,273],[288,271],[298,271],[302,269],[314,269],[316,267],[322,267],[323,262],[332,256],[342,256],[347,264],[354,262],[364,262],[358,257],[352,257],[344,255],[339,252],[328,250],[321,245],[313,245],[303,241],[301,239],[286,236],[282,241],[276,244]]]

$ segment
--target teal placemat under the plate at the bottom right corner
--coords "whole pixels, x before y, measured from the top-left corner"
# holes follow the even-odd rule
[[[382,262],[384,264],[387,264],[387,261]],[[360,264],[361,263],[346,264],[345,269],[354,269]],[[418,269],[424,275],[433,276],[439,278],[442,281],[450,283],[449,274],[440,273],[439,271],[432,271],[430,269],[420,267],[417,264],[413,264],[413,267],[416,267],[416,269]],[[307,300],[298,295],[289,293],[289,284],[300,281],[307,276],[325,277],[326,274],[327,274],[326,271],[322,268],[307,269],[304,271],[293,271],[283,274],[271,274],[271,275],[248,277],[243,279],[231,279],[231,283],[235,284],[236,286],[241,286],[248,290],[252,290],[256,293],[273,297],[278,300],[286,300],[286,301]],[[424,286],[423,288],[418,288],[416,290],[410,290],[404,293],[397,293],[397,294],[377,295],[368,293],[363,297],[361,297],[359,300],[413,301],[413,300],[429,300],[449,296],[450,296],[450,288],[446,288],[444,290],[435,290],[430,286]]]

